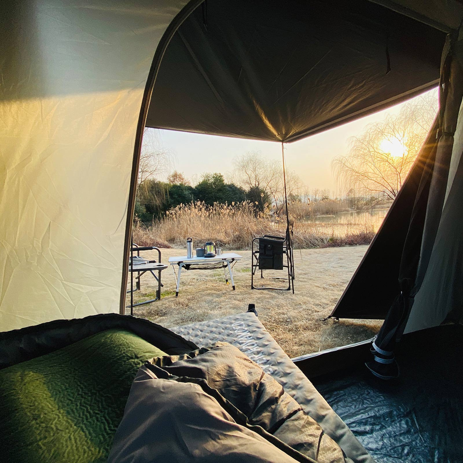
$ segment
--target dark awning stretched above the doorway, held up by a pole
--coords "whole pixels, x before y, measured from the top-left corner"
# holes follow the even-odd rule
[[[368,0],[207,0],[166,50],[146,125],[298,140],[436,85],[444,41]]]

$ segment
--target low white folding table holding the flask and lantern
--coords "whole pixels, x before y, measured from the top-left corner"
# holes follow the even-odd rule
[[[180,275],[182,268],[185,268],[187,270],[224,269],[225,282],[228,284],[228,278],[230,277],[230,281],[232,282],[232,288],[234,290],[235,282],[233,281],[233,267],[235,263],[242,258],[243,256],[235,254],[234,252],[220,254],[220,256],[216,257],[169,257],[169,263],[170,265],[172,265],[172,268],[174,269],[175,280],[177,281],[175,297],[178,297],[178,292],[180,288]],[[175,265],[178,266],[178,275],[175,272]]]

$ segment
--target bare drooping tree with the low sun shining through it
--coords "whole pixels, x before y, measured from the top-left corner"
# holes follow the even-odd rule
[[[438,110],[436,92],[420,95],[350,139],[349,153],[332,161],[344,191],[354,188],[377,200],[393,200],[402,186]]]

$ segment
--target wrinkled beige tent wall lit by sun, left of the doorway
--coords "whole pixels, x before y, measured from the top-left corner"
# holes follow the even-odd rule
[[[119,312],[136,127],[187,1],[0,6],[0,331]]]

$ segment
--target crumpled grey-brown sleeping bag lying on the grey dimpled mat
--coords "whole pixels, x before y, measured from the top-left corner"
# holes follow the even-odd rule
[[[108,462],[351,462],[270,375],[219,343],[138,371]]]

